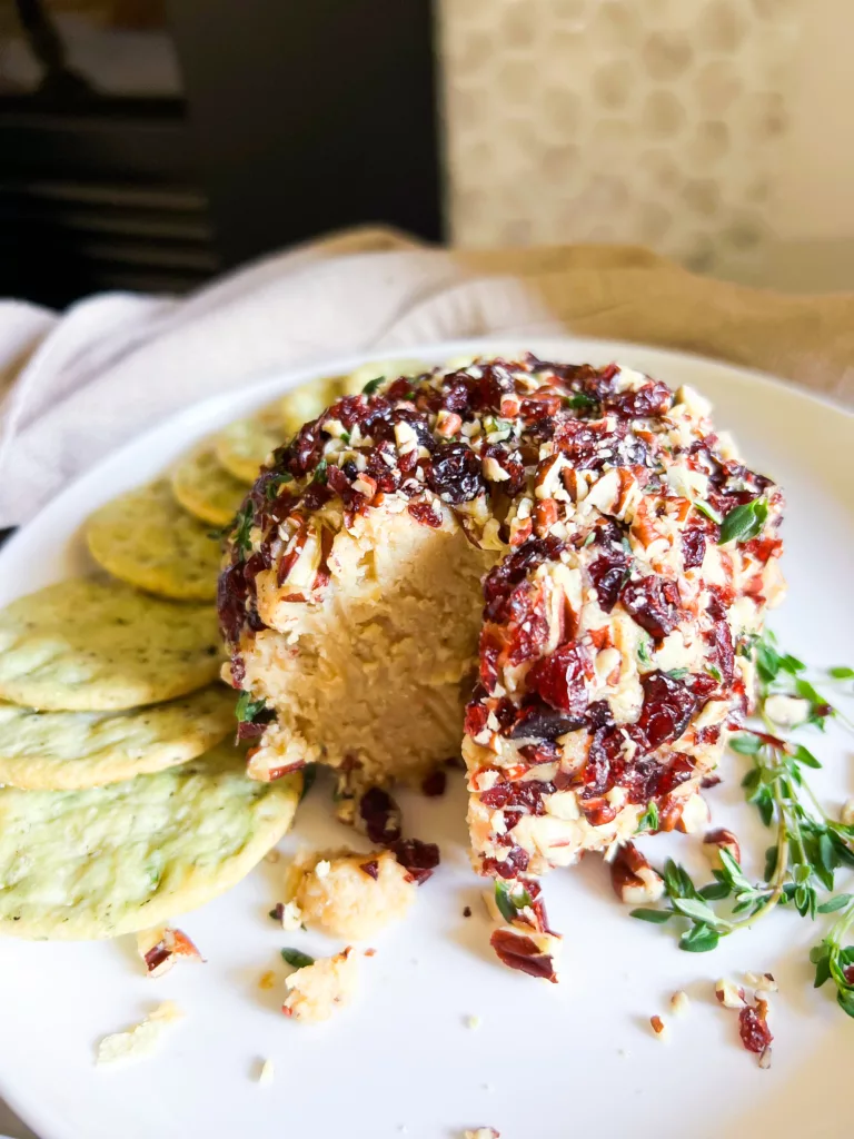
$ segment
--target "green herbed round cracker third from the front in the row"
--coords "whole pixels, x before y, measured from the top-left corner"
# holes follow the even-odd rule
[[[74,577],[0,613],[0,697],[49,712],[110,712],[216,679],[216,612],[120,581]]]

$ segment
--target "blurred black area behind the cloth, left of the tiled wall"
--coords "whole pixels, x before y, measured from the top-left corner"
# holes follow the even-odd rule
[[[0,293],[183,292],[360,222],[441,238],[432,9],[5,0]]]

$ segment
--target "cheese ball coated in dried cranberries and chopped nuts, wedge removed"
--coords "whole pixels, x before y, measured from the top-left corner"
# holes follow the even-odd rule
[[[536,878],[650,803],[673,827],[750,706],[782,495],[708,413],[531,354],[371,383],[274,453],[230,536],[249,773],[319,760],[358,814],[462,738],[475,865],[519,900],[493,944],[525,972],[551,969]]]

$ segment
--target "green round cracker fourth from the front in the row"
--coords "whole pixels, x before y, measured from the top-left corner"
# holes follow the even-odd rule
[[[107,502],[87,524],[95,560],[121,581],[180,601],[211,601],[222,551],[165,480]]]

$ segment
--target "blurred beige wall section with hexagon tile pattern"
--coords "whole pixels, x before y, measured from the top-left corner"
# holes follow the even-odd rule
[[[803,0],[442,0],[460,245],[641,241],[752,257]]]

